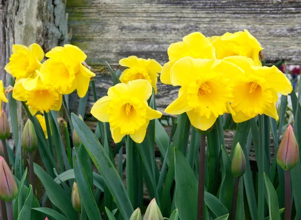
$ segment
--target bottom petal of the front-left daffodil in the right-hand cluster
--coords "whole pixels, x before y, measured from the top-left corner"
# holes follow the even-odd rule
[[[215,123],[217,117],[215,117],[213,114],[210,115],[209,119],[206,117],[201,117],[198,112],[195,112],[194,109],[187,112],[188,118],[190,120],[190,123],[197,129],[200,129],[202,131],[207,131],[210,129],[213,124]]]

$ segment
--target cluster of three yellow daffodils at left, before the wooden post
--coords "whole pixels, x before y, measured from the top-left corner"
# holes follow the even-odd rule
[[[33,115],[38,111],[58,111],[62,94],[75,89],[80,97],[85,96],[90,78],[95,76],[82,62],[86,54],[78,47],[66,44],[46,53],[38,44],[29,47],[13,45],[13,54],[5,70],[16,77],[13,97],[26,101]],[[1,89],[0,89],[1,90]]]

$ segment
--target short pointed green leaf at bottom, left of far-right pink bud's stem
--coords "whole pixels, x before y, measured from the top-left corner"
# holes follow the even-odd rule
[[[280,212],[279,212],[277,193],[274,189],[273,184],[271,183],[271,181],[265,174],[264,174],[264,182],[265,182],[265,188],[267,191],[269,219],[270,220],[280,220],[281,218],[280,218]]]

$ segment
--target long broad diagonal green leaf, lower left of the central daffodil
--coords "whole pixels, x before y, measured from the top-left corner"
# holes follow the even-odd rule
[[[112,161],[88,126],[74,114],[71,115],[71,118],[74,129],[82,140],[98,171],[103,176],[122,216],[129,219],[133,212],[133,207]]]

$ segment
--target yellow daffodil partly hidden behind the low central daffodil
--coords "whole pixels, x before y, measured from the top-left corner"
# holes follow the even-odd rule
[[[157,93],[158,73],[161,73],[162,66],[153,59],[141,59],[136,56],[129,56],[119,60],[120,66],[128,67],[119,77],[120,82],[128,83],[135,79],[146,79],[152,84]]]

